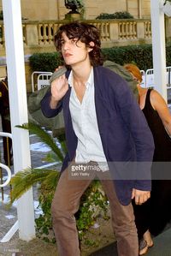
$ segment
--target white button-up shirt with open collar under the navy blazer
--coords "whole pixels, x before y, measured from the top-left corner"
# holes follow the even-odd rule
[[[103,152],[102,140],[100,138],[97,115],[94,100],[94,74],[91,74],[85,84],[85,95],[80,103],[73,85],[73,72],[69,74],[68,83],[72,87],[69,99],[69,110],[71,113],[74,133],[78,138],[75,162],[88,163],[99,162],[100,168],[106,169],[106,158]],[[108,169],[108,168],[107,168]]]

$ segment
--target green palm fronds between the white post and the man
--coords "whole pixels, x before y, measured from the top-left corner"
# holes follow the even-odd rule
[[[16,127],[27,129],[33,134],[36,134],[42,142],[50,147],[51,152],[47,154],[46,161],[63,161],[64,153],[66,152],[64,140],[57,140],[58,144],[56,144],[55,139],[52,138],[44,128],[41,128],[38,124],[33,122]],[[42,188],[55,190],[58,178],[59,172],[50,169],[34,169],[28,167],[25,170],[17,172],[11,179],[12,193],[10,204],[12,204],[15,199],[19,199],[23,193],[26,193],[29,188],[32,188],[32,186],[38,182],[41,184]]]

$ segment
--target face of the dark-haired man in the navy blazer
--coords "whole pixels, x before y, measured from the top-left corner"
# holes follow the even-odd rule
[[[78,39],[69,39],[66,33],[62,33],[62,56],[67,65],[73,66],[89,60],[89,50],[85,43]]]

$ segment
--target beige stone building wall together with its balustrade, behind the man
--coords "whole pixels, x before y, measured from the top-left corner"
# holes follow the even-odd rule
[[[21,0],[25,57],[29,57],[33,52],[56,51],[51,27],[56,29],[58,23],[68,14],[69,9],[65,7],[64,2],[64,0]],[[85,20],[92,21],[101,13],[114,14],[118,11],[127,11],[135,18],[134,21],[119,22],[115,20],[111,23],[108,22],[109,24],[100,21],[102,24],[99,23],[97,26],[101,30],[103,46],[150,43],[150,0],[82,0],[82,2],[85,7]],[[0,11],[2,9],[2,0],[0,0]],[[3,31],[3,22],[1,21],[0,30]],[[0,78],[6,74],[5,66],[4,37],[0,36]],[[25,68],[27,92],[31,92],[32,70],[27,60]]]

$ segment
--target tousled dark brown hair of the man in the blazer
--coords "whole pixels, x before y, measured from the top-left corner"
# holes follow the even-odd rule
[[[59,27],[54,37],[54,44],[56,51],[60,53],[62,50],[63,32],[66,33],[68,39],[78,39],[78,41],[80,40],[82,43],[85,43],[86,47],[93,49],[89,52],[92,66],[103,65],[100,34],[97,27],[80,21],[73,21]],[[91,46],[90,42],[94,42],[94,46]]]

